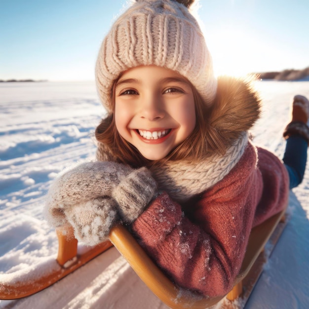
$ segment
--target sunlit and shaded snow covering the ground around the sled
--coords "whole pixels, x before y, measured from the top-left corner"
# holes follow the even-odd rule
[[[264,112],[254,141],[281,157],[291,99],[309,96],[309,81],[260,81],[256,87]],[[42,214],[45,194],[64,168],[94,159],[93,132],[104,114],[94,82],[0,83],[1,282],[57,267],[56,233]],[[246,309],[309,308],[308,192],[309,164],[304,182],[290,194],[291,219]],[[1,300],[0,309],[8,308],[167,307],[112,248],[48,289]]]

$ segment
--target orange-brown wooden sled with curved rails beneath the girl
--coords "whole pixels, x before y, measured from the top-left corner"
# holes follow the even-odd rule
[[[241,270],[222,308],[236,308],[235,304],[231,307],[231,301],[238,297],[241,299],[239,303],[244,306],[263,270],[264,263],[286,225],[284,213],[285,211],[276,214],[252,230]],[[224,298],[205,298],[174,285],[121,225],[112,229],[112,243],[103,242],[83,254],[77,253],[77,240],[73,236],[72,228],[66,232],[57,231],[57,234],[59,251],[53,271],[34,280],[19,278],[18,282],[12,284],[0,284],[0,299],[18,299],[37,293],[104,252],[112,243],[153,293],[170,308],[208,308]],[[264,250],[267,242],[267,250]]]

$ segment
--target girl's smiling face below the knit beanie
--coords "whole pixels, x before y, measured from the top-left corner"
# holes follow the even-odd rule
[[[192,88],[176,72],[136,67],[120,76],[115,89],[116,128],[145,158],[164,158],[192,133]]]

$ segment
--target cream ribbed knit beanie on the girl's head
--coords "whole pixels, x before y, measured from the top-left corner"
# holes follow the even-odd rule
[[[113,111],[113,83],[120,73],[140,65],[177,71],[191,81],[206,105],[216,95],[212,59],[197,21],[193,0],[136,0],[102,42],[96,83],[100,99]]]

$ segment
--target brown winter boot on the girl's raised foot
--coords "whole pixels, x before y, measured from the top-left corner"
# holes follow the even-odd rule
[[[309,144],[309,101],[302,95],[296,95],[293,101],[292,121],[286,126],[283,132],[284,138],[291,135],[300,135]]]

